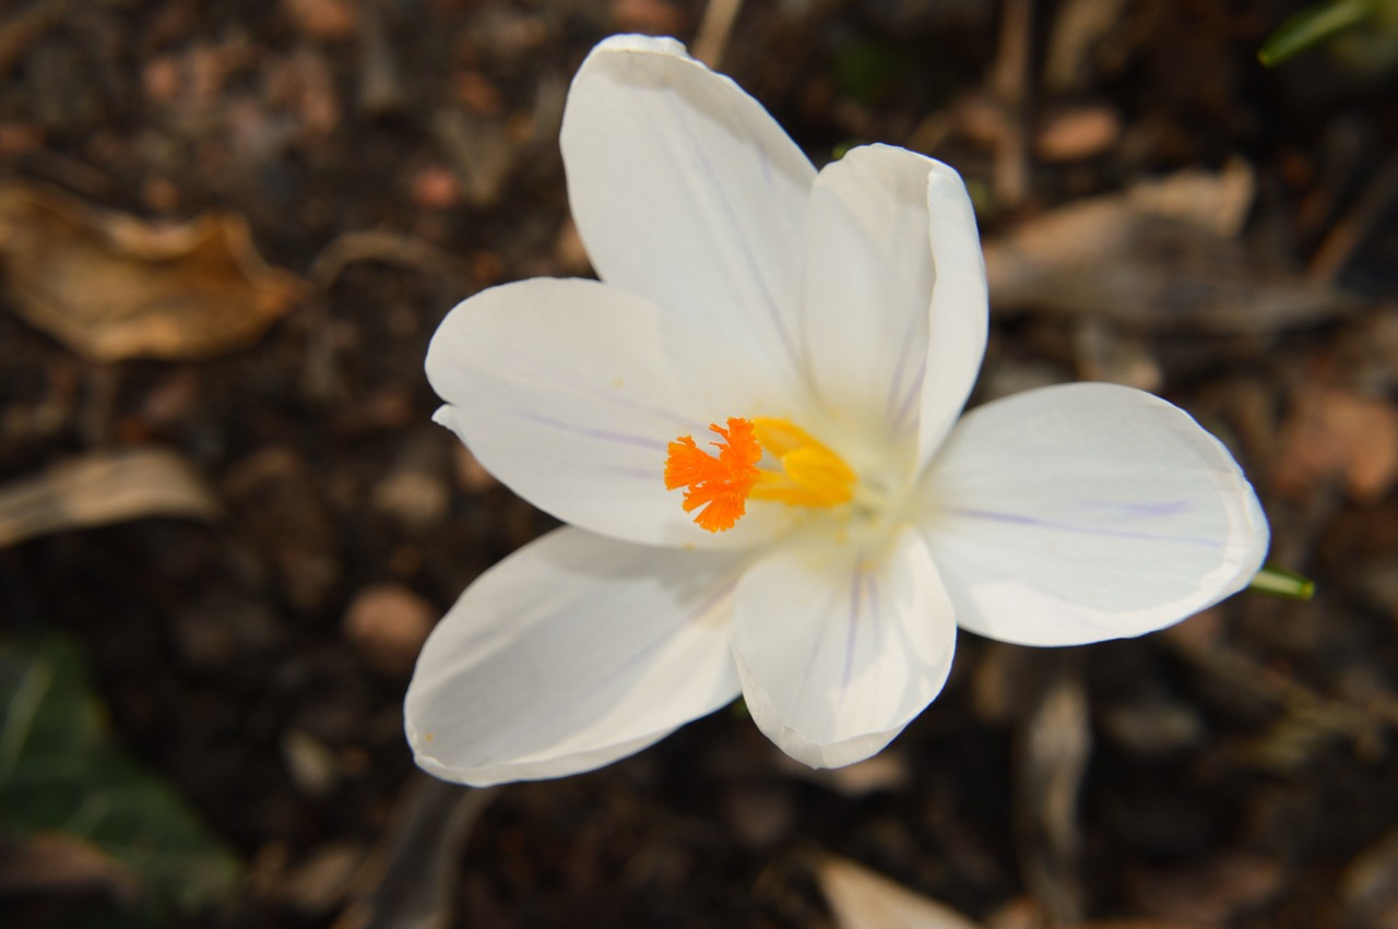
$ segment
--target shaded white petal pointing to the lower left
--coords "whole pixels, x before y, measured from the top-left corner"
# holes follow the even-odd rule
[[[419,767],[474,784],[577,774],[730,703],[733,556],[558,529],[482,574],[404,701]]]

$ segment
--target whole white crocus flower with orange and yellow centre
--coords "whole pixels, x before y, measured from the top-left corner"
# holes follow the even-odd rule
[[[849,764],[942,689],[958,626],[1139,636],[1258,569],[1253,489],[1170,404],[1072,384],[959,418],[987,305],[948,166],[870,145],[816,172],[640,36],[583,63],[562,149],[601,282],[484,291],[428,352],[439,422],[572,524],[428,640],[405,717],[432,774],[591,770],[740,694],[793,757]]]

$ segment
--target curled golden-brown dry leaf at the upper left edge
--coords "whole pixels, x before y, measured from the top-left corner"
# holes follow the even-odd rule
[[[305,289],[239,215],[162,226],[22,182],[0,186],[0,261],[20,316],[96,360],[243,348]]]

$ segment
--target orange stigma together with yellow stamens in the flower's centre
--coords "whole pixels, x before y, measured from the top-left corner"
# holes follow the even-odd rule
[[[713,454],[695,444],[693,436],[670,443],[665,489],[685,488],[685,513],[710,532],[731,529],[747,513],[748,500],[773,500],[787,506],[833,507],[854,497],[856,475],[815,436],[788,419],[730,416],[724,429],[710,423],[719,441]],[[761,468],[763,454],[780,471]]]

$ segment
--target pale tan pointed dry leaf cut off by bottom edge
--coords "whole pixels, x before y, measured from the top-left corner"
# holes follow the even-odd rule
[[[951,907],[844,858],[823,858],[816,877],[839,929],[980,929]]]

